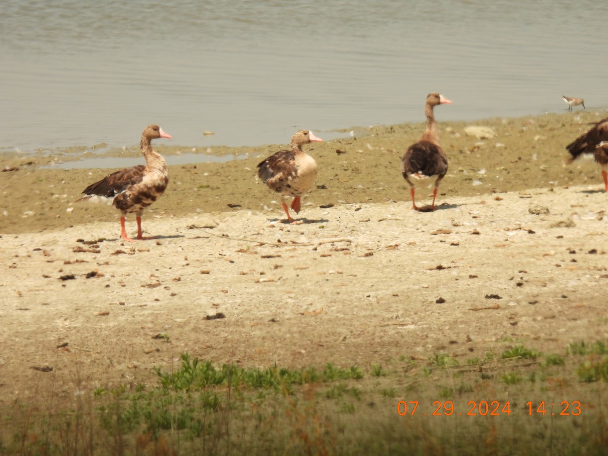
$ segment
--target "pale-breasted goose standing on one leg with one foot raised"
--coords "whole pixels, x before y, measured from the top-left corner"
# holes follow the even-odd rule
[[[278,151],[258,164],[258,178],[268,185],[273,192],[281,194],[281,204],[287,214],[289,223],[293,222],[285,196],[293,196],[291,209],[300,212],[300,198],[308,192],[317,178],[317,162],[302,151],[302,146],[311,142],[322,141],[309,130],[297,131],[289,143],[290,150]]]

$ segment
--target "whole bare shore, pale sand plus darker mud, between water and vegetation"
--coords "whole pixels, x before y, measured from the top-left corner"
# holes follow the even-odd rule
[[[422,124],[306,148],[326,188],[303,198],[297,225],[254,179],[276,147],[172,167],[143,216],[156,239],[137,243],[120,239],[115,210],[73,204],[108,170],[5,157],[19,169],[0,174],[0,401],[49,387],[32,367],[52,367],[55,392],[69,395],[151,381],[185,352],[366,367],[499,353],[510,340],[545,353],[605,340],[607,195],[597,167],[563,166],[565,144],[600,116],[478,123],[491,139],[440,123],[450,171],[430,213],[410,209],[398,171]]]

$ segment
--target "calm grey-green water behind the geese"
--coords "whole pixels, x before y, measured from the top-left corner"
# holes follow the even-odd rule
[[[0,150],[286,143],[354,125],[608,107],[598,0],[4,0]],[[203,136],[203,131],[214,136]]]

